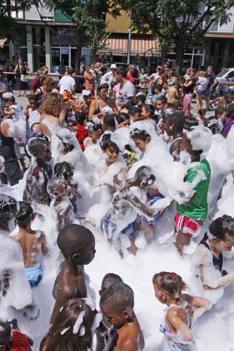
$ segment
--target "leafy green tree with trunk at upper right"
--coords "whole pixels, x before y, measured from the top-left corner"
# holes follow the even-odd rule
[[[133,29],[158,37],[162,51],[171,44],[176,53],[176,68],[181,72],[186,46],[199,42],[214,22],[227,23],[234,0],[113,0],[111,14],[131,12]]]

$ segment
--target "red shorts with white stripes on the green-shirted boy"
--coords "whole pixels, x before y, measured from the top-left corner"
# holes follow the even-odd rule
[[[182,232],[183,234],[189,235],[190,237],[194,234],[197,236],[203,224],[191,218],[184,217],[178,212],[175,215],[174,221],[176,232]]]

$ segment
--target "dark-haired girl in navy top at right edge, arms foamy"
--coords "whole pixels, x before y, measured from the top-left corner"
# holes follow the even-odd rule
[[[222,216],[209,226],[204,238],[192,256],[192,271],[199,278],[202,288],[225,287],[234,283],[234,273],[222,270],[222,251],[234,246],[234,218]]]

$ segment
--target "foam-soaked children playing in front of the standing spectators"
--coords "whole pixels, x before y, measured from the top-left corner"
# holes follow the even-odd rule
[[[176,90],[176,84],[171,84]],[[28,123],[32,119],[32,133],[26,151],[31,164],[19,186],[22,198],[17,202],[0,194],[0,303],[4,305],[0,312],[0,348],[13,350],[16,338],[21,338],[19,345],[26,345],[22,349],[32,349],[30,338],[10,331],[12,325],[20,329],[21,319],[15,310],[8,311],[14,307],[24,317],[33,315],[31,320],[37,319],[39,308],[28,291],[41,284],[42,256],[46,260],[51,255],[60,267],[52,290],[55,303],[50,329],[39,350],[91,350],[94,334],[96,350],[144,348],[144,333],[134,313],[134,292],[120,276],[104,276],[99,291],[100,312],[96,310],[95,294],[84,271],[95,255],[93,227],[101,228],[110,249],[115,249],[121,259],[129,252],[137,258],[137,237],[142,235],[145,245],[150,244],[155,239],[154,228],[169,208],[175,216],[173,243],[180,255],[186,254],[186,246],[192,237],[200,235],[207,220],[212,173],[206,156],[212,134],[226,136],[234,112],[229,104],[227,109],[217,107],[214,117],[206,119],[201,109],[197,118],[184,118],[172,93],[164,96],[159,84],[156,86],[157,96],[152,96],[150,103],[145,104],[145,88],[141,88],[117,113],[106,109],[89,119],[90,91],[83,93],[84,102],[74,115],[71,99],[49,93],[40,112],[37,108],[37,120],[32,114],[35,100],[28,98],[31,107],[27,110],[31,110],[25,117]],[[6,100],[14,99],[8,96]],[[5,119],[11,119],[17,109],[7,103]],[[38,223],[48,232],[39,230]],[[17,232],[8,237],[15,224]],[[123,235],[129,239],[128,253],[122,245]],[[222,252],[233,246],[234,219],[227,215],[216,218],[191,258],[201,295],[234,282],[234,274],[222,269]],[[17,279],[22,294],[29,296],[18,305],[12,301],[16,296],[12,284],[17,284]],[[156,273],[152,282],[155,297],[167,305],[160,325],[166,347],[192,349],[191,320],[215,302],[185,294],[187,286],[175,272]]]

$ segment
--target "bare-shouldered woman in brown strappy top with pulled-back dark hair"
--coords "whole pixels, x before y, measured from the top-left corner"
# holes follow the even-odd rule
[[[97,97],[92,100],[89,112],[88,119],[97,116],[98,118],[102,118],[102,108],[105,106],[109,106],[112,108],[113,112],[116,114],[118,112],[117,107],[111,97],[107,97],[109,85],[107,83],[101,84],[97,88]]]

